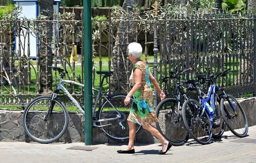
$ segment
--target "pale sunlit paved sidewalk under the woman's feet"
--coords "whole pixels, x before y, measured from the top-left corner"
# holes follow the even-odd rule
[[[160,144],[135,144],[135,154],[119,154],[127,143],[97,144],[91,151],[67,149],[84,148],[84,143],[26,143],[0,142],[0,162],[256,162],[256,126],[249,127],[245,138],[225,132],[222,139],[208,145],[189,140],[173,146],[166,155],[157,155]],[[89,147],[89,146],[86,146]]]

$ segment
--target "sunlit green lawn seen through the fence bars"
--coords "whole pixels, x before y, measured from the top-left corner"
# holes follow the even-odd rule
[[[143,58],[144,57],[142,57],[142,59]],[[158,58],[159,58],[159,56],[158,56]],[[153,60],[154,60],[154,56],[148,56],[148,61],[151,61],[151,62],[148,63],[148,66],[150,67],[151,72],[153,71],[153,66],[154,66],[154,64],[152,63]],[[95,71],[99,71],[100,70],[100,67],[98,65],[99,57],[94,58],[94,62],[96,63],[95,64]],[[112,62],[112,60],[111,60],[111,62]],[[34,64],[36,64],[36,62],[33,61],[32,64],[34,65]],[[235,69],[233,69],[233,64],[235,65]],[[236,69],[236,65],[238,65],[238,70]],[[236,63],[236,62],[233,63],[232,61],[229,62],[229,59],[228,59],[227,60],[227,64],[226,64],[226,59],[224,60],[224,66],[223,66],[224,69],[228,69],[229,67],[232,68],[232,70],[231,70],[231,78],[230,78],[230,83],[231,84],[233,84],[233,81],[236,80],[236,73],[239,73],[239,66],[240,66],[240,59],[238,59],[238,63]],[[72,80],[73,79],[72,70],[70,69],[70,67],[68,65],[66,67],[67,67],[68,74],[66,75],[65,79]],[[217,70],[218,67],[213,67],[212,68],[213,71],[215,71],[215,69]],[[102,57],[102,69],[101,70],[102,71],[108,71],[108,57],[106,57],[106,56]],[[173,70],[173,67],[171,67],[171,70]],[[160,69],[158,69],[158,72],[159,71],[160,71]],[[165,74],[165,71],[167,72],[167,75],[168,75],[168,72],[169,72],[169,65],[168,64],[166,66],[166,69],[165,69],[164,65],[162,65],[162,74],[163,75]],[[81,81],[82,66],[81,65],[80,66],[79,65],[75,66],[75,71],[74,72],[75,72],[75,81],[80,82]],[[235,73],[235,76],[234,76],[235,79],[233,79],[233,72]],[[203,72],[201,72],[201,73],[203,73]],[[57,76],[55,76],[55,72],[53,72],[53,89],[54,89],[54,86],[56,86],[56,84],[58,83],[58,81],[59,81],[58,78],[59,77],[60,76],[58,75],[58,73],[57,73]],[[158,74],[158,80],[159,80],[159,78],[160,78],[160,75]],[[223,82],[224,82],[223,85],[224,86],[226,85],[225,79],[228,79],[228,81],[229,81],[229,74],[228,74],[228,77],[224,78],[224,80],[223,80]],[[55,80],[56,80],[56,82],[55,82]],[[220,81],[217,80],[217,84],[220,83],[220,82],[221,82],[221,80]],[[26,83],[27,83],[27,81],[26,81]],[[27,94],[28,93],[28,85],[26,83],[24,84],[24,87],[22,87],[22,89],[21,89],[21,93],[22,94]],[[99,84],[100,84],[100,75],[95,73],[94,87],[96,89],[98,89],[99,88]],[[105,84],[105,82],[104,82],[104,84]],[[236,82],[235,82],[235,84],[236,84]],[[65,86],[70,91],[70,93],[72,93],[72,86],[70,86],[68,84],[65,84]],[[10,86],[9,85],[5,85],[5,87],[7,88],[7,90],[10,91]],[[17,87],[14,86],[14,88],[16,89],[16,92],[18,94]],[[74,88],[75,88],[74,91],[75,91],[76,94],[80,94],[81,93],[81,87],[80,86],[76,86],[75,85]],[[9,94],[9,91],[7,91],[7,90],[4,89],[3,93],[4,94]],[[107,90],[108,90],[108,84],[103,86],[102,92],[106,92]],[[36,72],[32,68],[31,68],[30,93],[31,94],[35,94],[36,93]],[[62,92],[60,92],[60,94],[61,93]],[[97,94],[97,92],[95,92],[95,94]],[[243,97],[251,97],[251,96],[252,95],[249,94],[249,95],[244,95]],[[1,101],[1,99],[0,99],[0,101]],[[6,107],[6,106],[4,106],[4,107],[0,106],[0,108],[23,109],[21,107]],[[68,110],[70,110],[70,111],[72,111],[74,109],[75,109],[74,107],[68,107]]]

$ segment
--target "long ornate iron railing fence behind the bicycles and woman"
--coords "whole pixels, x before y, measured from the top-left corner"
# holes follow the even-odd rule
[[[130,42],[139,42],[144,51],[142,59],[151,67],[166,93],[171,94],[174,87],[171,82],[161,83],[160,79],[168,76],[169,71],[177,72],[188,67],[195,68],[195,71],[184,75],[184,80],[200,73],[209,77],[211,73],[231,68],[228,76],[220,78],[218,84],[233,95],[256,93],[256,18],[252,12],[241,16],[216,11],[189,13],[188,10],[159,18],[157,4],[155,6],[148,14],[114,8],[107,20],[92,21],[93,87],[101,81],[101,77],[95,74],[96,70],[112,70],[114,76],[108,79],[110,84],[105,91],[127,92],[131,63],[126,49]],[[81,20],[74,20],[74,17],[74,12],[64,11],[63,14],[54,14],[54,20],[0,20],[1,105],[24,106],[35,96],[41,96],[43,73],[49,88],[43,94],[51,93],[58,83],[58,73],[49,73],[50,61],[53,66],[68,70],[66,79],[83,83],[83,65],[90,61],[83,58],[82,13]],[[49,29],[53,35],[49,34]],[[36,42],[30,42],[31,37],[36,38]],[[36,47],[36,60],[30,57],[32,44]],[[76,45],[81,56],[77,61]],[[45,61],[40,60],[42,49],[45,49]],[[150,57],[153,54],[154,57]],[[83,101],[81,88],[72,84],[66,87]]]

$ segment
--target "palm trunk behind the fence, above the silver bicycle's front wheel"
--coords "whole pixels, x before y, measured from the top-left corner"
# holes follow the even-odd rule
[[[46,16],[47,20],[53,20],[53,3],[54,3],[54,0],[38,0],[38,4],[40,6],[40,14]],[[44,42],[46,42],[46,37],[47,37],[47,42],[50,42],[53,36],[51,22],[47,23],[47,27],[46,27],[46,23],[44,23],[41,26],[40,32],[41,31],[44,31],[44,32],[47,31],[47,35],[41,38],[43,39],[43,41],[40,42],[40,49],[39,49],[40,93],[43,94],[43,93],[50,93],[52,91],[52,83],[53,83],[53,77],[51,76],[51,68],[48,67],[53,64],[53,55],[52,55],[51,47],[44,44]],[[47,66],[46,66],[46,63],[47,63]],[[47,72],[46,72],[46,67],[47,67]]]

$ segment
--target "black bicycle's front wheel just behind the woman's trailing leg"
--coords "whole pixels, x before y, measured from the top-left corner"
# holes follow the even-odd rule
[[[156,116],[159,120],[156,123],[156,128],[174,146],[183,145],[189,139],[189,132],[182,119],[182,108],[180,108],[179,121],[176,120],[177,105],[175,98],[166,98],[156,107]],[[182,104],[180,104],[180,107],[182,107]],[[161,122],[163,120],[165,122]]]

